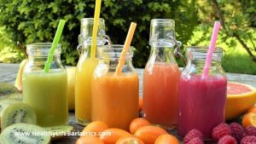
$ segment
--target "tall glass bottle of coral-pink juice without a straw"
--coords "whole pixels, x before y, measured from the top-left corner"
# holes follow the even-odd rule
[[[180,71],[173,53],[180,45],[174,38],[174,29],[174,20],[151,20],[151,53],[143,75],[143,117],[166,129],[177,124]]]

